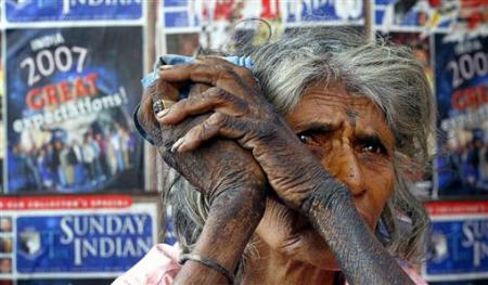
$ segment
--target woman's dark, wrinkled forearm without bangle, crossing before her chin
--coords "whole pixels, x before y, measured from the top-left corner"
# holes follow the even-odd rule
[[[325,174],[304,211],[326,241],[350,284],[413,284],[368,229],[349,190]]]

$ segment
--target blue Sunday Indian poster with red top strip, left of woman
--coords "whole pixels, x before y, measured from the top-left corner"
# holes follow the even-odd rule
[[[113,280],[157,243],[157,200],[0,197],[0,278]]]

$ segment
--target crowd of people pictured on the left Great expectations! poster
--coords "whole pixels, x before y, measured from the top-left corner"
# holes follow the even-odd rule
[[[10,190],[89,191],[133,167],[137,138],[127,126],[92,125],[79,139],[54,131],[52,139],[31,148],[9,146]]]

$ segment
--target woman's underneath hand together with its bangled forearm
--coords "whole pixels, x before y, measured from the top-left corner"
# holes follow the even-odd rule
[[[190,98],[205,89],[208,87],[195,85]],[[175,127],[159,127],[153,101],[163,98],[177,100],[176,86],[158,81],[145,90],[139,121],[156,141],[164,160],[210,199],[207,221],[192,254],[216,260],[233,273],[262,217],[265,176],[253,155],[233,141],[216,141],[192,153],[171,153],[169,150],[176,139],[208,116],[193,117]],[[224,276],[215,269],[187,261],[175,284],[226,283]]]

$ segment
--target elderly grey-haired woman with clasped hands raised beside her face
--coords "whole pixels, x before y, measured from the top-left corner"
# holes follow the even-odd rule
[[[252,68],[218,56],[163,65],[144,95],[139,121],[185,178],[170,195],[180,250],[162,246],[118,281],[415,281],[404,263],[427,219],[406,171],[425,163],[433,129],[422,66],[323,28],[234,55]]]

